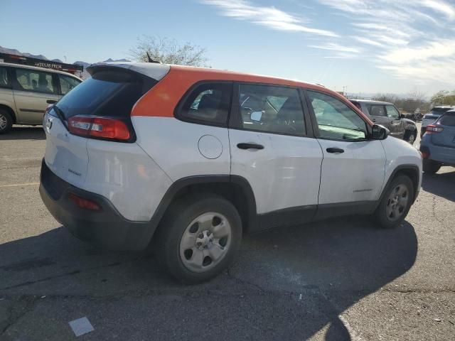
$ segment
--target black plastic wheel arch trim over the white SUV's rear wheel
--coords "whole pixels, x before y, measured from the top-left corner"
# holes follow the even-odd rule
[[[255,224],[255,195],[245,178],[237,175],[195,175],[176,180],[168,188],[151,218],[155,225],[154,232],[172,203],[191,193],[214,193],[232,202],[242,218],[244,232]]]

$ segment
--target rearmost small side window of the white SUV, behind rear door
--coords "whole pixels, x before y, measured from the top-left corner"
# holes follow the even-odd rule
[[[232,83],[197,85],[178,107],[176,117],[200,124],[227,125],[231,97]]]

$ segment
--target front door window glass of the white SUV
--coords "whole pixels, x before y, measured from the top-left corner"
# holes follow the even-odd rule
[[[321,139],[355,141],[367,138],[367,126],[353,109],[335,97],[308,91]]]

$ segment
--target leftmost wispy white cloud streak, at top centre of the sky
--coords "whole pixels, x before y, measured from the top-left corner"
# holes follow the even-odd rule
[[[203,3],[217,6],[223,16],[248,20],[278,31],[303,32],[326,37],[338,36],[332,31],[311,28],[303,18],[276,9],[274,6],[255,6],[245,0],[203,0]]]

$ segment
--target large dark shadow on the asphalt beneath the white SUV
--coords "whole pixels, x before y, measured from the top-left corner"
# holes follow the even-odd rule
[[[349,340],[338,315],[405,274],[417,237],[407,222],[383,230],[363,218],[274,229],[245,237],[230,270],[196,286],[173,281],[148,253],[102,251],[61,227],[1,244],[0,254],[0,296],[90,298],[80,314],[96,310],[97,330],[120,338],[152,335],[158,323],[168,335],[178,325],[177,338],[187,340],[194,330],[221,340],[306,340],[323,328],[326,340]],[[52,304],[41,314],[58,315],[63,303]],[[122,313],[109,313],[120,305]],[[147,306],[146,316],[139,305]]]

